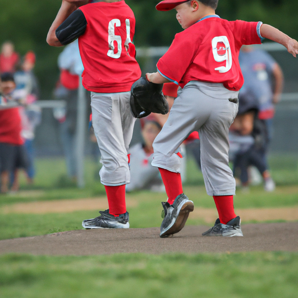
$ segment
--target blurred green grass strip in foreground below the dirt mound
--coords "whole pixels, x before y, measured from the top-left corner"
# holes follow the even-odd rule
[[[298,253],[0,256],[2,298],[296,298]]]

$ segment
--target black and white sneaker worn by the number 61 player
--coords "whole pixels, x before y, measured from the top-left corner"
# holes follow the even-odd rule
[[[109,209],[100,211],[100,216],[92,219],[86,219],[82,222],[85,229],[128,229],[129,228],[129,214],[126,211],[118,217],[111,215]]]

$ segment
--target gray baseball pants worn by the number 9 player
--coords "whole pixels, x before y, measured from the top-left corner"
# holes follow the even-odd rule
[[[228,152],[229,127],[238,113],[238,103],[235,103],[238,93],[226,89],[223,84],[187,83],[153,143],[152,165],[180,173],[181,160],[175,153],[189,134],[198,131],[207,194],[235,195]]]

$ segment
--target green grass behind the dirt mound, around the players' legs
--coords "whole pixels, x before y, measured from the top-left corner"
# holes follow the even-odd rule
[[[251,187],[249,193],[236,191],[235,208],[291,207],[298,205],[298,182],[296,156],[271,157],[273,176],[281,175],[285,183],[277,180],[277,190],[266,193],[262,186]],[[27,186],[24,176],[21,177],[21,192],[15,195],[0,195],[0,207],[18,202],[48,201],[57,199],[76,199],[105,196],[103,185],[98,180],[98,165],[90,159],[85,163],[86,186],[78,189],[75,186],[61,183],[66,174],[63,159],[37,159],[37,175],[33,186]],[[188,159],[188,179],[184,185],[184,193],[194,201],[195,207],[215,208],[213,199],[207,195],[203,177],[195,162]],[[62,179],[60,179],[62,177]],[[286,180],[286,177],[291,177]],[[63,180],[64,179],[64,180]],[[136,207],[129,207],[130,226],[146,228],[160,226],[161,201],[166,200],[165,193],[138,191],[127,195],[138,202]],[[70,213],[50,214],[4,214],[0,211],[0,239],[44,235],[57,231],[82,229],[81,223],[86,218],[98,216],[98,210],[77,211]],[[150,218],[150,221],[148,221]],[[202,219],[189,219],[188,225],[205,224]]]

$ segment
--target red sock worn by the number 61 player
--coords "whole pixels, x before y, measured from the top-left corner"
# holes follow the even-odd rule
[[[114,216],[119,216],[119,214],[125,213],[125,184],[119,186],[105,185],[105,192],[108,197],[109,213]]]

